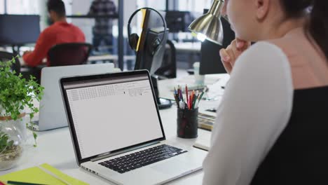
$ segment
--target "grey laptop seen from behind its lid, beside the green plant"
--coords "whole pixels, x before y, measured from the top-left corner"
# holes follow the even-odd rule
[[[32,130],[50,130],[67,127],[67,118],[60,94],[58,82],[63,76],[87,74],[104,74],[114,71],[114,64],[85,64],[62,67],[43,67],[41,71],[41,85],[44,87],[43,97],[39,105],[39,119],[36,116]]]

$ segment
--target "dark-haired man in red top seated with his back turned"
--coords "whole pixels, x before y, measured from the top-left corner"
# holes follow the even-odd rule
[[[59,43],[85,42],[86,38],[78,27],[67,23],[64,2],[61,0],[48,0],[47,3],[50,20],[53,25],[41,32],[36,41],[34,51],[24,53],[23,60],[29,66],[36,67],[47,57],[48,50]],[[50,66],[47,57],[47,66]]]

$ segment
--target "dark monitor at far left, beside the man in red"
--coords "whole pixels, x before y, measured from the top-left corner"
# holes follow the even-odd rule
[[[0,45],[36,43],[40,34],[39,15],[0,15]]]

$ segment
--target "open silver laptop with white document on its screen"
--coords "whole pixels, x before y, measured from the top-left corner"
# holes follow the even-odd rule
[[[201,170],[206,151],[165,139],[148,71],[62,78],[60,86],[82,169],[115,184],[164,184]]]

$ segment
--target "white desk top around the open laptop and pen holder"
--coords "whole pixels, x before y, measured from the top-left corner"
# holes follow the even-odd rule
[[[170,83],[170,80],[168,80],[168,83]],[[164,89],[162,90],[164,91]],[[170,109],[160,110],[160,117],[163,122],[165,135],[167,139],[191,146],[197,139],[181,139],[176,135],[176,111],[177,109],[175,106],[172,106]],[[28,134],[28,140],[31,141],[32,135],[30,132]],[[198,139],[203,137],[208,138],[210,137],[210,134],[211,132],[198,129]],[[33,167],[42,163],[48,163],[62,172],[67,173],[77,179],[81,179],[82,181],[86,181],[89,184],[111,184],[110,181],[97,177],[95,174],[86,172],[86,170],[82,170],[78,167],[68,128],[39,132],[38,135],[38,146],[36,148],[33,148],[32,145],[25,147],[25,155],[22,157],[20,165],[11,170],[0,172],[0,175],[8,172],[14,172],[16,170],[22,170],[27,167]],[[202,184],[202,179],[203,171],[198,171],[176,179],[170,184]]]

